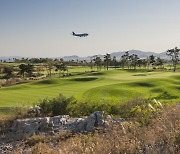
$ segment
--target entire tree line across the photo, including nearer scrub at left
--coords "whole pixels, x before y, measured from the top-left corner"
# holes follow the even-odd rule
[[[40,76],[43,71],[47,71],[49,77],[52,73],[58,73],[59,77],[65,76],[68,74],[68,66],[88,66],[93,70],[94,67],[97,68],[97,71],[100,71],[102,68],[109,70],[109,68],[122,68],[122,69],[137,69],[137,68],[164,68],[164,65],[171,63],[173,71],[176,71],[177,64],[179,62],[179,53],[180,49],[175,47],[174,49],[167,50],[166,54],[170,57],[170,60],[161,59],[160,57],[155,57],[150,55],[145,59],[139,58],[136,54],[130,54],[128,51],[125,52],[120,59],[117,59],[115,56],[110,54],[105,54],[103,58],[100,56],[91,57],[90,61],[87,60],[69,60],[64,61],[60,59],[51,59],[51,58],[22,58],[22,59],[13,59],[13,62],[20,63],[17,66],[11,65],[2,65],[0,64],[0,73],[4,74],[4,78],[11,78],[15,74],[16,76],[32,77]],[[3,61],[1,61],[2,63]],[[34,73],[36,72],[36,73]]]

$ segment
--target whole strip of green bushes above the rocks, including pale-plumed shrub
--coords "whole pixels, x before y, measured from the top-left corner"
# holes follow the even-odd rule
[[[125,103],[112,101],[78,102],[73,97],[66,98],[62,94],[54,99],[43,99],[39,106],[43,116],[70,115],[87,116],[95,111],[120,116],[124,119],[135,119],[141,125],[149,124],[152,116],[158,113],[158,105],[152,99],[134,98]],[[151,108],[152,107],[152,108]]]

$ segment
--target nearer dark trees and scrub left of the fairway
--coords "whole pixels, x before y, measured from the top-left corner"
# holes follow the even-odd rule
[[[47,72],[49,77],[51,77],[52,72],[58,72],[59,77],[65,75],[65,72],[68,72],[68,67],[64,61],[54,61],[49,59],[46,63],[43,64],[20,64],[18,66],[12,65],[0,65],[0,74],[3,78],[9,79],[12,77],[38,77],[44,74],[44,71]],[[54,73],[53,72],[53,73]]]

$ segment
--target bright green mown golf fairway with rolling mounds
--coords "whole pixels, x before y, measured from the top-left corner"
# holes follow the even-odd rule
[[[0,107],[31,105],[43,98],[62,93],[78,100],[120,100],[155,97],[162,101],[180,100],[180,73],[147,70],[90,72],[87,68],[70,69],[74,75],[0,89]]]

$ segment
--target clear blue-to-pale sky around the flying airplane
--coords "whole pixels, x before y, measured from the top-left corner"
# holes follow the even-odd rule
[[[0,0],[0,56],[164,52],[180,45],[179,7],[180,0]]]

